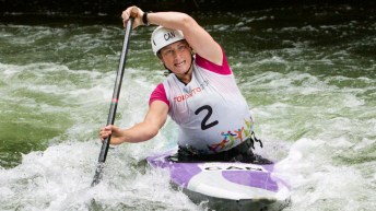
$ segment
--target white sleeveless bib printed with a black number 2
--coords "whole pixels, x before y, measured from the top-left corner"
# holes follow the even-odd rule
[[[250,136],[252,120],[247,102],[232,72],[220,74],[196,62],[192,67],[187,85],[175,74],[163,82],[168,115],[179,126],[178,144],[199,154],[227,151]]]

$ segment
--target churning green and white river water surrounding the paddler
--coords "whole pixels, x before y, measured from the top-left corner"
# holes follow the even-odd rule
[[[263,156],[291,184],[285,210],[376,208],[376,12],[304,7],[193,13],[223,46],[256,120]],[[106,21],[104,21],[106,20]],[[164,79],[154,27],[132,32],[116,124],[143,119]],[[90,188],[124,31],[105,16],[0,21],[0,210],[210,210],[144,159],[174,148],[168,120],[152,141],[110,149]],[[93,204],[92,199],[97,203]]]

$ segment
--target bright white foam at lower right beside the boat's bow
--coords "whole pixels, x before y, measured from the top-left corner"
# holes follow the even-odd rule
[[[371,180],[352,166],[336,165],[339,150],[328,149],[327,142],[301,139],[277,164],[277,175],[292,186],[293,204],[287,210],[372,210],[364,208],[365,201],[375,203]]]

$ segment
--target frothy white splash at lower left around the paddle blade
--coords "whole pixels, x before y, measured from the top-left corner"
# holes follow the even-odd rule
[[[141,161],[133,155],[144,148],[126,148],[109,151],[103,180],[93,188],[99,149],[94,141],[64,142],[24,155],[19,166],[0,169],[2,210],[91,210],[93,200],[104,210],[198,209],[172,189],[167,172],[133,166]]]

